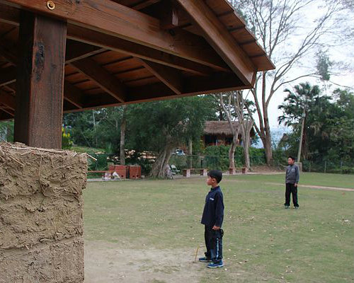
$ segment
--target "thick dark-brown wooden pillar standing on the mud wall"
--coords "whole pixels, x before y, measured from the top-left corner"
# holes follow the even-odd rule
[[[21,12],[14,140],[60,149],[67,23]]]

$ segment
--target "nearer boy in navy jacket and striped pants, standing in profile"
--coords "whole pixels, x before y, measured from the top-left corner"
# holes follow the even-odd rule
[[[219,183],[222,180],[222,171],[211,170],[207,173],[207,185],[211,186],[205,198],[204,211],[201,223],[205,225],[205,257],[200,262],[210,262],[207,267],[223,267],[222,263],[222,221],[224,219],[224,200]]]

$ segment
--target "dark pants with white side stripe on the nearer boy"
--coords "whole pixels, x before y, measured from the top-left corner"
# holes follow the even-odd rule
[[[219,262],[222,260],[222,229],[212,230],[212,226],[205,225],[205,246],[207,252],[206,258],[210,258],[212,262]]]

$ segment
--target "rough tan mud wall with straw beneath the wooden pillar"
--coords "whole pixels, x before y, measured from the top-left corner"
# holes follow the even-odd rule
[[[86,154],[0,144],[0,283],[84,282]]]

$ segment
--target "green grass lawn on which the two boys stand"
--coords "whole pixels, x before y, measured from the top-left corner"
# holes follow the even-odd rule
[[[284,187],[267,184],[283,179],[224,177],[225,268],[195,265],[202,270],[198,282],[354,282],[354,192],[299,187],[300,209],[285,210]],[[353,175],[319,173],[300,179],[301,184],[348,188],[353,181]],[[200,217],[207,192],[205,178],[88,183],[86,242],[132,250],[184,248],[192,262],[193,252],[204,244]]]

